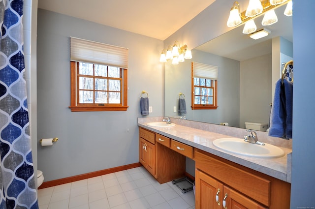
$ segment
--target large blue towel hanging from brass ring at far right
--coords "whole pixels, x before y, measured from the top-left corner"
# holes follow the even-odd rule
[[[270,128],[268,135],[292,138],[292,100],[293,84],[286,79],[276,83],[274,102],[271,108]]]

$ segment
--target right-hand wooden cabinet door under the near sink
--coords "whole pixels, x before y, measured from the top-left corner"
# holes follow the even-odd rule
[[[225,197],[225,195],[226,209],[266,209],[258,203],[224,185],[223,198]]]

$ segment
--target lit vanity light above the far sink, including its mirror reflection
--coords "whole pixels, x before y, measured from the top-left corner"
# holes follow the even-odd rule
[[[161,56],[159,58],[160,62],[167,62],[167,60],[172,60],[172,64],[178,64],[191,59],[191,51],[188,50],[187,45],[180,46],[179,41],[175,41],[174,45],[168,46],[168,49],[162,50]]]

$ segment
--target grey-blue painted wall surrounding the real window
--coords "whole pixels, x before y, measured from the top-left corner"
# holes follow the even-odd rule
[[[164,114],[163,42],[47,10],[38,10],[37,142],[58,137],[52,147],[38,143],[38,169],[45,181],[139,162],[140,93],[149,93],[150,117]],[[71,112],[69,36],[129,49],[128,110]]]

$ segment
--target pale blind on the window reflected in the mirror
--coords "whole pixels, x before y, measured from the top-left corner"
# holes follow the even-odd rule
[[[197,78],[208,78],[213,80],[218,80],[218,67],[209,65],[209,64],[203,64],[198,62],[192,62],[192,72],[193,77]]]

